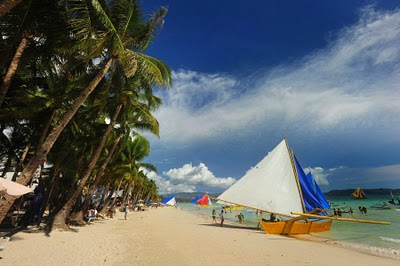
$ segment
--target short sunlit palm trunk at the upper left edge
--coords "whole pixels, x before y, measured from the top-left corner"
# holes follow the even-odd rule
[[[3,2],[4,2],[4,0],[3,0]],[[0,10],[2,10],[1,4],[2,4],[2,2],[0,3]],[[17,51],[15,52],[15,55],[14,55],[13,59],[11,60],[10,66],[8,67],[7,73],[4,76],[3,82],[1,83],[0,108],[4,102],[4,99],[6,98],[8,88],[10,87],[10,84],[15,75],[15,72],[17,72],[19,61],[21,60],[22,54],[24,53],[27,44],[28,44],[28,39],[26,37],[22,37],[22,40],[18,45]]]

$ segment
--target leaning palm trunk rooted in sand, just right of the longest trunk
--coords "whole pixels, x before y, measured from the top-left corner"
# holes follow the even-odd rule
[[[89,208],[90,205],[90,201],[92,200],[92,197],[94,195],[94,192],[97,188],[97,185],[100,183],[101,178],[104,175],[104,170],[106,169],[108,163],[111,161],[112,156],[114,155],[114,152],[118,146],[118,143],[120,142],[121,138],[123,135],[119,136],[113,143],[113,146],[110,150],[110,152],[107,155],[107,158],[104,160],[104,163],[101,165],[99,171],[97,172],[96,178],[93,182],[93,184],[90,186],[88,192],[87,192],[87,196],[85,198],[85,201],[82,204],[81,210],[78,211],[77,213],[75,213],[73,215],[73,219],[76,221],[81,221],[83,220],[84,214],[86,213],[86,211]]]

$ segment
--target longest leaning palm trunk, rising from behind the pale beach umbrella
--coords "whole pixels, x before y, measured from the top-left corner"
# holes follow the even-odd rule
[[[53,128],[53,130],[47,136],[43,144],[40,146],[40,148],[38,148],[34,158],[32,158],[28,163],[28,165],[24,168],[24,170],[22,170],[22,173],[19,175],[19,178],[17,179],[17,183],[20,183],[22,185],[27,185],[29,183],[29,181],[32,178],[32,175],[35,173],[39,164],[42,162],[42,160],[46,157],[47,153],[53,147],[58,136],[61,134],[61,132],[66,127],[68,122],[72,119],[72,117],[75,115],[75,113],[78,111],[79,107],[83,104],[83,102],[87,99],[87,97],[89,97],[90,93],[93,92],[93,90],[96,88],[99,82],[103,79],[108,69],[110,68],[112,61],[113,61],[112,58],[108,59],[104,67],[99,71],[99,73],[97,73],[96,77],[82,91],[82,93],[75,100],[71,108],[65,113],[61,122],[56,127]],[[10,199],[9,203],[7,203],[7,205],[5,205],[4,208],[0,211],[0,224],[3,222],[5,214],[7,214],[8,210],[10,209],[14,201],[15,198]]]

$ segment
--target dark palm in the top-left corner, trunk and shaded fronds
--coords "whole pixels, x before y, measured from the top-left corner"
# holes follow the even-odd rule
[[[1,18],[1,68],[4,68],[5,75],[0,86],[0,107],[26,51],[28,55],[25,56],[24,64],[29,64],[31,57],[35,57],[37,61],[40,57],[57,54],[60,44],[69,44],[66,42],[68,27],[63,15],[65,11],[59,2],[26,0]],[[8,67],[5,67],[6,64]]]

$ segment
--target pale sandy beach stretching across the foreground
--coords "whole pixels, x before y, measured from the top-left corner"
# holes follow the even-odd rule
[[[76,232],[21,231],[0,252],[1,265],[399,265],[332,244],[263,231],[219,227],[175,208],[123,213]],[[32,230],[35,231],[35,230]]]

